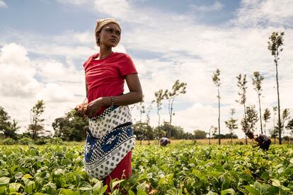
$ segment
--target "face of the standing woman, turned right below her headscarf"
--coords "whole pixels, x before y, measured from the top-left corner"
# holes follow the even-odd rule
[[[99,32],[100,47],[115,47],[120,42],[121,30],[115,23],[105,25]]]

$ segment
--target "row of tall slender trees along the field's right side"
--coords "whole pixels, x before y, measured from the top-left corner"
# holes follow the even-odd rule
[[[282,117],[281,117],[281,109],[280,109],[280,86],[279,86],[279,78],[278,78],[278,65],[280,60],[280,53],[282,52],[282,45],[283,45],[283,36],[285,35],[284,32],[272,32],[272,35],[269,37],[268,41],[268,50],[273,57],[273,61],[275,64],[276,69],[276,83],[277,83],[277,106],[272,107],[273,112],[273,127],[270,129],[270,135],[273,138],[278,136],[279,143],[282,144],[282,134],[285,133],[285,129],[291,131],[290,133],[293,134],[293,119],[290,119],[289,116],[289,109],[282,110]],[[267,134],[267,126],[269,119],[271,118],[271,112],[269,108],[265,108],[264,113],[262,114],[261,109],[261,93],[262,93],[262,83],[264,80],[264,76],[259,72],[253,72],[252,83],[253,89],[258,95],[258,109],[259,111],[255,110],[255,105],[246,105],[246,90],[247,90],[247,83],[246,74],[239,74],[236,76],[237,79],[237,86],[239,87],[239,104],[243,105],[243,118],[241,119],[241,129],[244,133],[247,131],[255,131],[255,124],[260,120],[260,133]],[[218,134],[220,135],[220,93],[219,88],[221,83],[220,79],[220,71],[217,69],[214,71],[212,75],[212,81],[214,85],[217,87],[217,99],[218,99]],[[234,119],[235,109],[231,108],[230,110],[231,117],[225,121],[226,127],[229,129],[230,133],[233,134],[235,129],[238,129],[237,119]],[[275,115],[277,117],[277,125],[275,125]],[[264,124],[263,124],[264,122]],[[287,125],[286,125],[287,122]],[[221,144],[221,136],[219,136],[219,144]],[[246,144],[247,144],[247,137],[246,137]]]

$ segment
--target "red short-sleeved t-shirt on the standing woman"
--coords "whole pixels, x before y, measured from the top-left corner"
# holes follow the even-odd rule
[[[98,55],[93,54],[84,63],[88,103],[100,97],[121,95],[124,92],[125,76],[137,73],[128,54],[113,52],[104,59],[96,59]],[[103,107],[97,114],[106,108]]]

